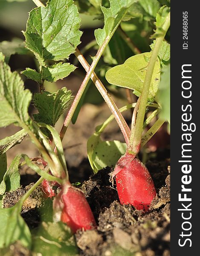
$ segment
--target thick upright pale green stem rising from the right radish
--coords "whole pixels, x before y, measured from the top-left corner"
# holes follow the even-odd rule
[[[162,27],[165,33],[167,32],[169,26],[170,26],[170,13],[166,17],[165,23]],[[151,78],[154,72],[155,63],[157,61],[157,55],[158,55],[160,46],[162,44],[162,41],[165,38],[165,33],[161,37],[156,39],[155,47],[154,47],[154,50],[152,51],[151,58],[146,69],[145,82],[142,89],[142,94],[141,94],[141,99],[140,99],[140,104],[139,104],[139,109],[138,109],[138,114],[136,119],[136,126],[135,126],[135,129],[131,131],[131,134],[130,134],[130,146],[128,147],[128,152],[130,154],[136,155],[139,153],[141,139],[142,139],[145,110],[146,110],[146,105],[148,101],[149,87],[151,84]]]

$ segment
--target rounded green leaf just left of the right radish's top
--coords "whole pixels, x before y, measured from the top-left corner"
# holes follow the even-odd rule
[[[127,145],[118,140],[103,141],[99,143],[93,152],[93,164],[97,170],[106,166],[115,167],[119,158],[125,154]]]

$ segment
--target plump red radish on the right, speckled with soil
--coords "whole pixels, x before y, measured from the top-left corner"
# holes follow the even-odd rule
[[[116,163],[114,176],[121,204],[132,204],[138,210],[147,211],[156,189],[146,166],[126,152]]]

